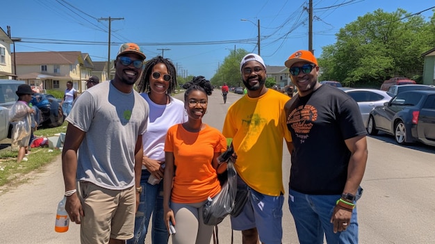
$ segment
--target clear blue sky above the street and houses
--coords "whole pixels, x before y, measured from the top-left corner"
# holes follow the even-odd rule
[[[314,0],[315,55],[336,42],[335,33],[340,28],[366,13],[379,8],[391,13],[402,8],[413,14],[433,6],[433,1]],[[162,54],[158,49],[170,49],[164,56],[179,72],[187,70],[189,75],[211,79],[230,49],[257,52],[257,19],[266,65],[284,65],[294,51],[308,49],[308,12],[304,7],[308,7],[308,0],[13,0],[2,3],[0,27],[6,32],[10,26],[13,38],[26,40],[17,42],[17,52],[81,51],[94,61],[104,61],[108,56],[108,21],[98,20],[124,18],[111,22],[111,42],[136,42],[148,58]],[[426,21],[432,15],[433,10],[422,13]],[[36,43],[52,40],[59,41]],[[112,45],[111,59],[118,47]]]

